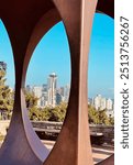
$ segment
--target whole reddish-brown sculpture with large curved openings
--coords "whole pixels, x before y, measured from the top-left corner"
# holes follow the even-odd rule
[[[0,148],[1,165],[93,165],[87,113],[88,51],[95,12],[113,18],[114,0],[0,0],[15,67],[11,124]],[[64,22],[71,59],[71,90],[66,119],[48,153],[30,123],[23,88],[32,53],[53,25]],[[99,165],[113,165],[113,155]]]

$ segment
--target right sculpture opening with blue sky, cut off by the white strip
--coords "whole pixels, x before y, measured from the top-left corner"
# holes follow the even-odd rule
[[[88,116],[95,163],[114,152],[113,108],[114,21],[106,14],[96,13],[88,64]],[[98,152],[100,155],[96,156]]]

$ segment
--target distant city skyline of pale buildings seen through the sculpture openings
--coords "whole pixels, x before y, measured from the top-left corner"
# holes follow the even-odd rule
[[[70,86],[65,87],[57,86],[58,75],[56,73],[51,73],[47,77],[47,82],[42,86],[30,86],[26,85],[26,91],[34,94],[38,98],[38,107],[55,107],[60,102],[68,102]],[[67,90],[66,90],[67,89]],[[111,98],[106,98],[102,95],[97,95],[93,98],[88,98],[88,105],[91,105],[96,110],[107,109],[108,116],[113,116],[114,100]]]

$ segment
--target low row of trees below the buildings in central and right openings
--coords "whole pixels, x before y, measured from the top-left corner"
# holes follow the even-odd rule
[[[29,117],[31,120],[36,121],[64,121],[67,111],[67,103],[62,102],[55,108],[46,107],[44,109],[30,108]],[[96,110],[93,107],[88,106],[88,119],[91,124],[106,124],[113,125],[114,118],[108,117],[107,110]]]

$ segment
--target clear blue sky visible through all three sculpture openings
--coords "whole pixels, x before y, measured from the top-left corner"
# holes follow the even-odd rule
[[[7,84],[14,86],[12,50],[7,31],[0,21],[0,61],[8,64]],[[58,86],[70,84],[70,56],[63,23],[56,24],[38,43],[30,62],[26,84],[42,85],[55,72]],[[101,94],[113,98],[114,89],[114,21],[96,14],[89,54],[89,97]]]

